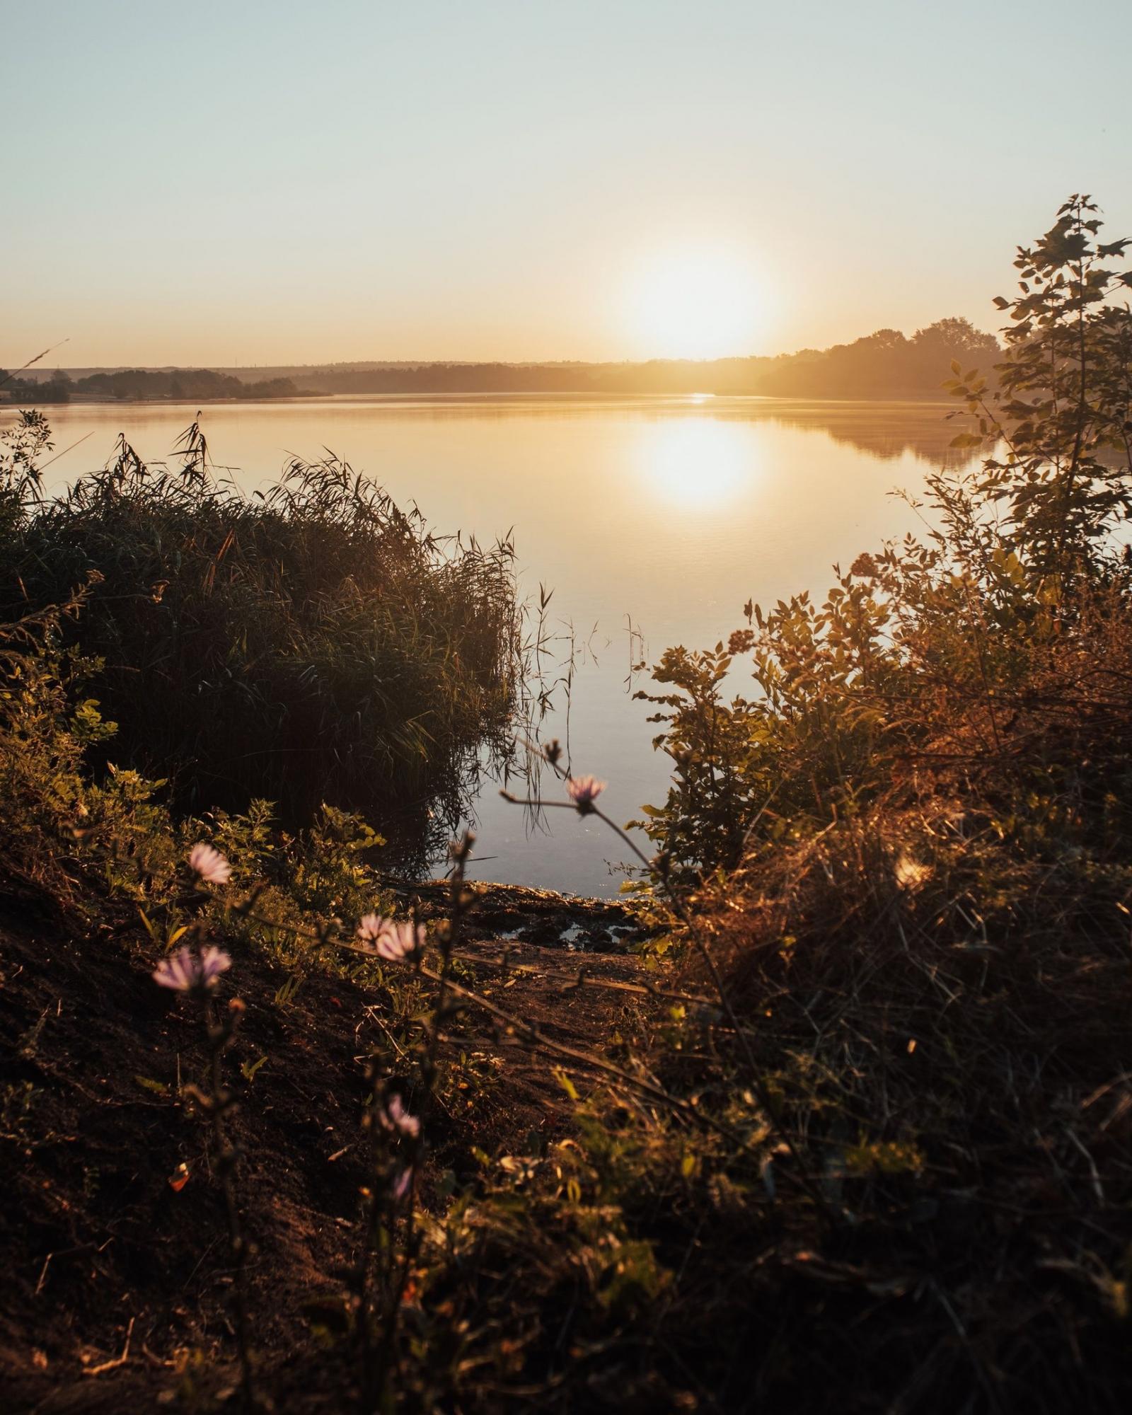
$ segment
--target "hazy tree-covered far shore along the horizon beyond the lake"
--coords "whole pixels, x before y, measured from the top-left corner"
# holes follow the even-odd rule
[[[940,398],[952,359],[989,372],[992,334],[947,318],[917,330],[877,330],[852,344],[777,358],[649,359],[631,364],[351,362],[222,369],[30,369],[0,392],[117,399],[297,398],[310,393],[754,393],[777,398]],[[37,392],[40,398],[37,399]],[[45,396],[44,396],[45,395]],[[54,400],[67,400],[58,396]]]

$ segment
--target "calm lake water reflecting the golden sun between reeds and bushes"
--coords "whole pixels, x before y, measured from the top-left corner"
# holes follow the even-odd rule
[[[187,405],[50,410],[61,484],[100,464],[119,432],[147,460],[191,422]],[[824,590],[833,562],[918,525],[887,495],[918,491],[955,433],[945,405],[749,398],[320,399],[214,405],[204,427],[218,463],[265,487],[287,453],[323,447],[416,501],[440,532],[491,541],[514,526],[524,587],[553,587],[552,628],[583,661],[570,706],[577,773],[610,785],[627,821],[664,799],[648,705],[627,688],[628,617],[649,662],[671,644],[713,645],[741,606]],[[647,685],[647,675],[635,686]],[[559,709],[565,708],[562,695]],[[545,736],[566,736],[562,715]],[[475,805],[481,877],[584,894],[616,893],[623,848],[600,825],[549,812],[552,833],[487,785]]]

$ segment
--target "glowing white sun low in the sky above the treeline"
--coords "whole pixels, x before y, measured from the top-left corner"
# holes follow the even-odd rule
[[[766,335],[766,283],[750,260],[722,249],[644,260],[627,303],[634,341],[651,358],[753,354]]]

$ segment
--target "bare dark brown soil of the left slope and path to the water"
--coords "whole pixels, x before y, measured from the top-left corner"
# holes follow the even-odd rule
[[[441,910],[440,890],[415,891],[422,913]],[[477,893],[460,966],[487,996],[583,1050],[640,1016],[631,992],[572,986],[579,964],[591,978],[637,976],[627,954],[637,925],[621,906]],[[160,1409],[184,1395],[187,1360],[215,1398],[236,1382],[232,1272],[207,1126],[180,1095],[202,1077],[200,1013],[154,986],[151,945],[129,921],[72,934],[0,900],[0,1404],[42,1415]],[[382,1019],[374,995],[317,972],[280,1003],[286,976],[246,955],[226,986],[246,1005],[225,1080],[241,1102],[232,1133],[255,1242],[249,1306],[276,1408],[340,1409],[350,1377],[341,1357],[311,1356],[310,1315],[338,1299],[354,1257],[362,1068]],[[488,1081],[463,1112],[446,1099],[426,1203],[432,1180],[460,1173],[473,1145],[502,1155],[570,1124],[546,1061],[507,1029],[468,1010],[454,1032],[450,1046],[478,1056]],[[507,1084],[491,1084],[504,1049]],[[583,1094],[596,1081],[584,1064],[567,1070]]]

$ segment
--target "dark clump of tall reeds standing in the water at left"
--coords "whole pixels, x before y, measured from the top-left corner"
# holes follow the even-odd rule
[[[34,413],[7,436],[0,587],[17,616],[98,576],[81,641],[117,758],[170,777],[185,809],[267,798],[290,825],[323,801],[378,824],[400,809],[419,860],[429,807],[458,815],[484,740],[507,750],[509,543],[439,541],[334,457],[293,458],[245,497],[216,480],[198,424],[173,466],[122,440],[45,501],[48,436]]]

